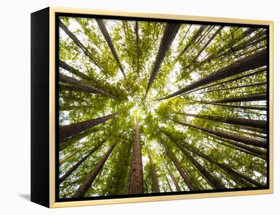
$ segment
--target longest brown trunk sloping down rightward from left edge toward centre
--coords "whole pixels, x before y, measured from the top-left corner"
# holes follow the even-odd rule
[[[117,97],[107,93],[106,91],[102,90],[102,89],[98,89],[97,87],[87,84],[87,83],[83,83],[75,78],[63,75],[63,74],[59,74],[59,81],[62,81],[64,83],[69,83],[69,84],[74,84],[76,87],[74,88],[83,88],[83,89],[88,89],[88,91],[90,91],[91,93],[95,93],[95,94],[102,94],[104,96],[108,96],[111,97],[113,99],[118,99]],[[76,89],[77,90],[77,89]]]

